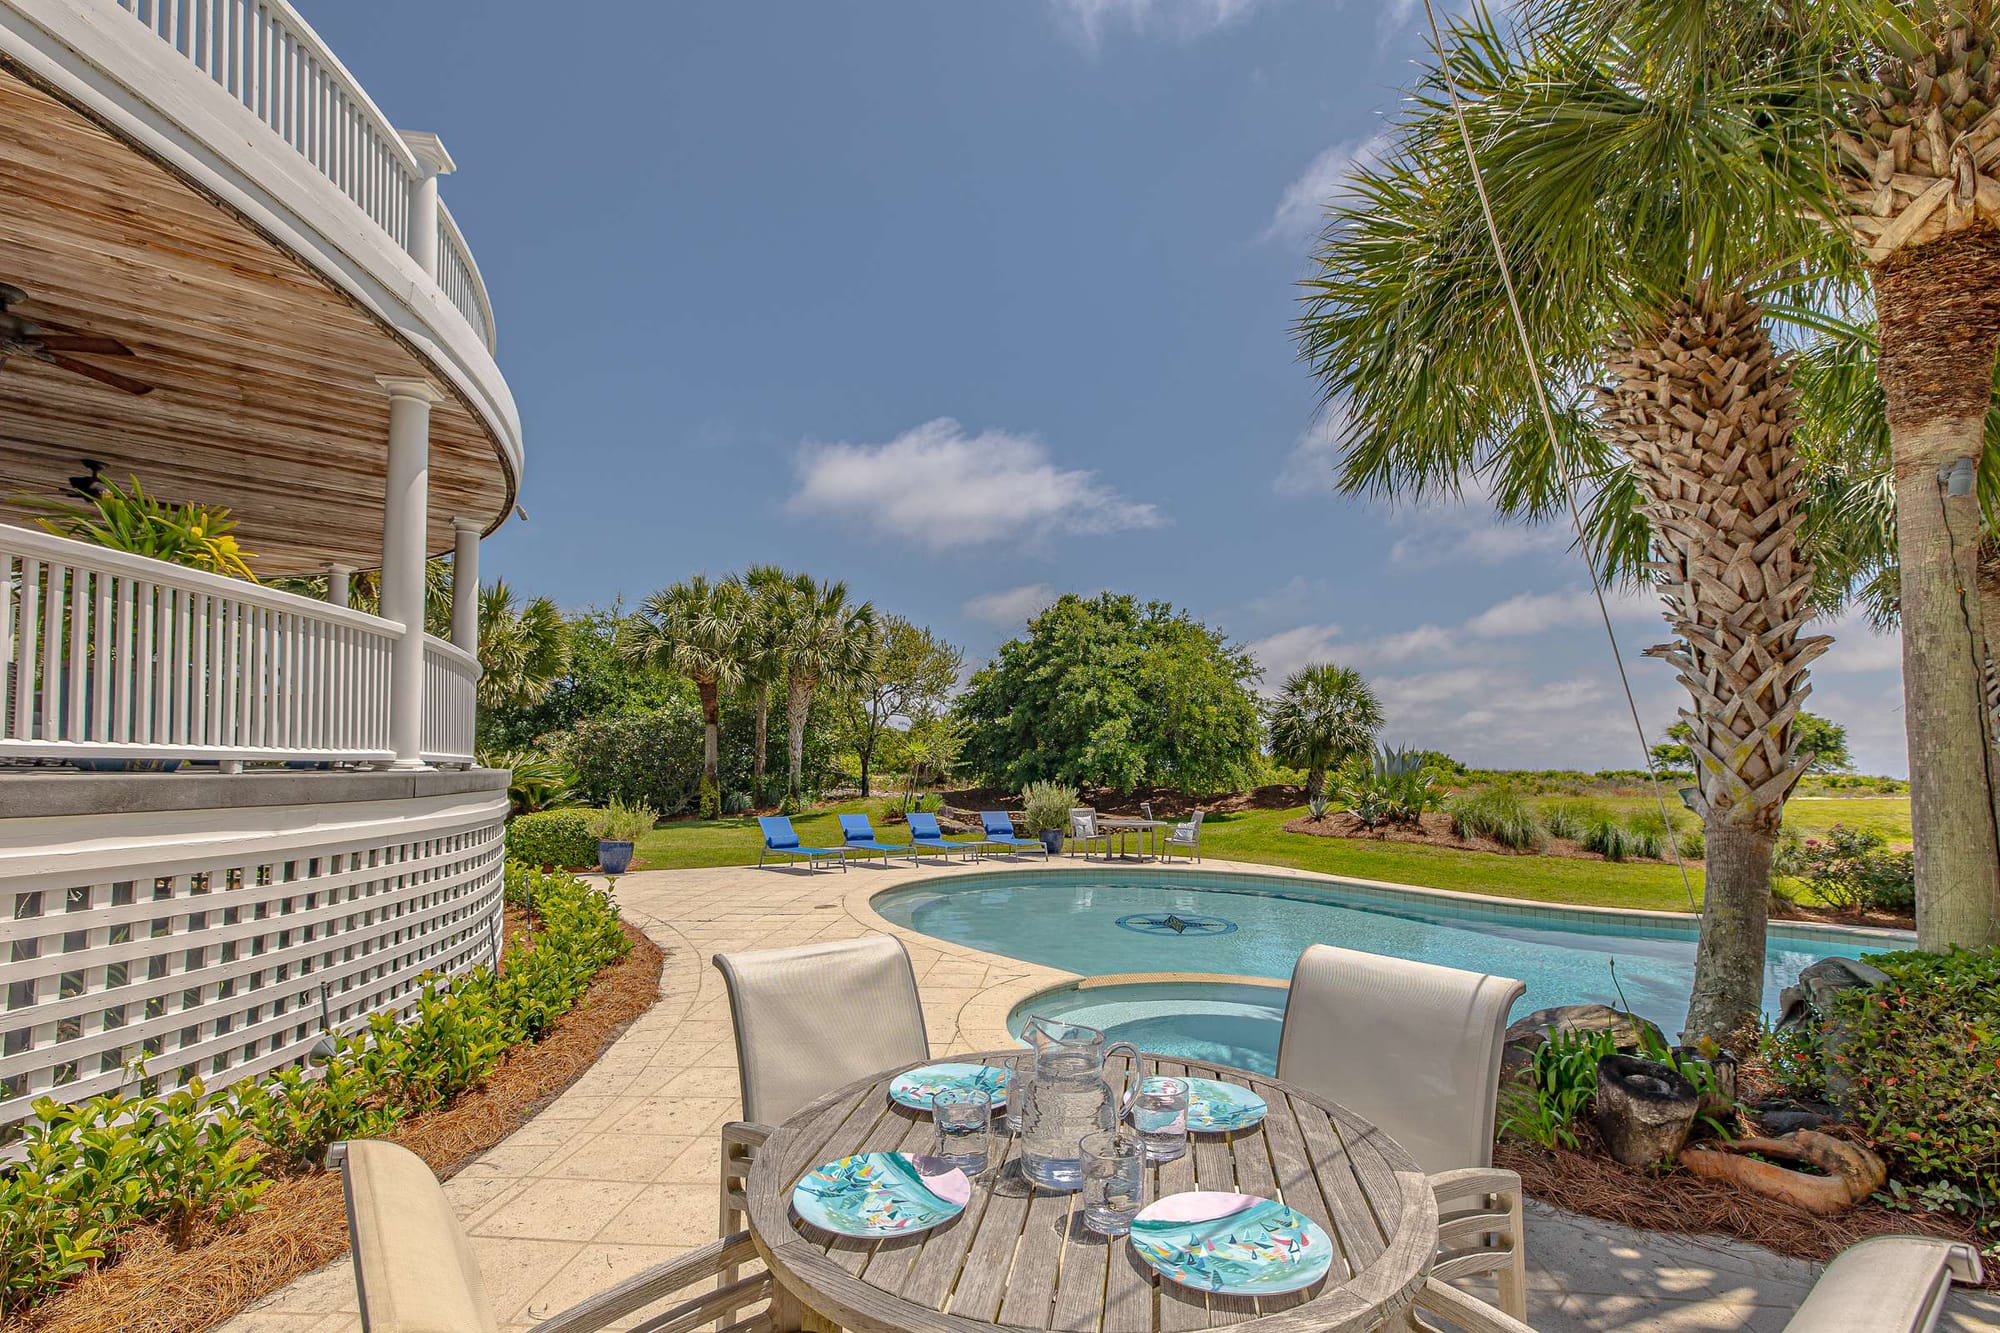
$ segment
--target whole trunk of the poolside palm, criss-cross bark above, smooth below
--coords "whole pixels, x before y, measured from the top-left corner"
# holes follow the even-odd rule
[[[1812,564],[1798,550],[1792,382],[1762,312],[1706,284],[1606,368],[1598,414],[1632,456],[1654,584],[1680,636],[1646,652],[1676,666],[1694,703],[1680,717],[1708,889],[1684,1037],[1722,1041],[1762,1009],[1770,853],[1808,763],[1792,723],[1812,693],[1806,666],[1830,642],[1800,634]]]

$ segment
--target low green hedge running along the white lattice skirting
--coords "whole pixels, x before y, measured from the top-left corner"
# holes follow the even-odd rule
[[[328,1143],[450,1105],[508,1047],[538,1041],[632,945],[608,893],[510,863],[508,901],[530,895],[536,931],[514,937],[498,975],[428,979],[410,1015],[374,1015],[320,1069],[220,1093],[194,1081],[164,1097],[38,1101],[22,1161],[0,1171],[0,1317],[110,1263],[142,1225],[190,1245],[262,1207],[272,1175],[316,1171]]]

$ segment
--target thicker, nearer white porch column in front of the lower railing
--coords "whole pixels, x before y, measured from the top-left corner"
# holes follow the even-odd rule
[[[378,378],[388,390],[382,496],[382,616],[402,622],[388,666],[388,741],[396,769],[424,765],[424,558],[430,526],[430,380]]]

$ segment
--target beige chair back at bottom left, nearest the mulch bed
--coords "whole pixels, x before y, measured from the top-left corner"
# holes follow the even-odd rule
[[[342,1189],[366,1333],[496,1333],[472,1245],[422,1157],[354,1139]]]

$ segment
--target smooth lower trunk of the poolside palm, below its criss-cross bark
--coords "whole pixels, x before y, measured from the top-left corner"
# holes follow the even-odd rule
[[[1694,949],[1694,997],[1684,1041],[1724,1041],[1754,1027],[1764,1007],[1764,931],[1776,825],[1708,821],[1708,887]]]

